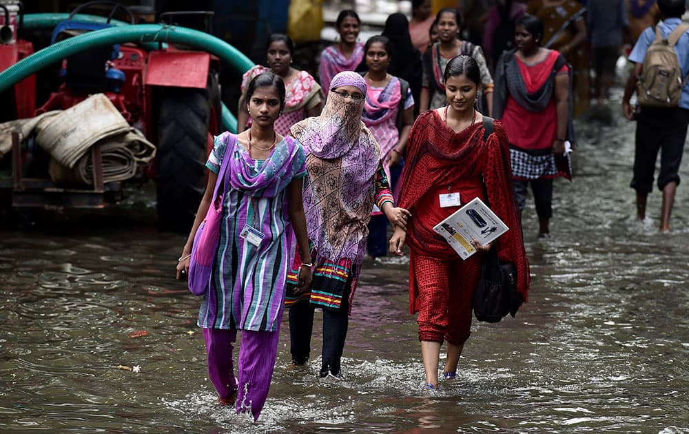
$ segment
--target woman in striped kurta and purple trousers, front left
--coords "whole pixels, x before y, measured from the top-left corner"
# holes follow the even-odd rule
[[[206,194],[177,267],[178,272],[188,267],[185,256],[222,175],[220,242],[198,325],[203,328],[208,371],[218,400],[256,419],[273,375],[292,242],[296,236],[305,243],[300,245],[308,246],[301,196],[305,152],[296,139],[282,138],[274,130],[284,105],[285,84],[279,76],[265,72],[251,80],[247,110],[254,123],[236,136],[226,132],[216,137],[206,163],[210,170]],[[230,160],[223,165],[226,158]],[[301,254],[307,263],[299,272],[300,285],[308,288],[309,250],[304,248]],[[237,330],[242,331],[242,340],[235,378],[232,351]]]

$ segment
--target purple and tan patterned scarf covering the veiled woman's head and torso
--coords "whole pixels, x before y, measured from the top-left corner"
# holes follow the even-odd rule
[[[333,77],[330,90],[342,86],[355,86],[366,94],[366,82],[356,72]],[[309,154],[304,207],[317,261],[363,260],[373,208],[373,177],[380,163],[380,145],[361,121],[363,109],[363,99],[328,92],[320,116],[298,122],[290,130]]]

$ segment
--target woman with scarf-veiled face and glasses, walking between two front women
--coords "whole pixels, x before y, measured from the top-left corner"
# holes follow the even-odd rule
[[[331,82],[323,112],[291,128],[305,144],[307,172],[304,209],[311,241],[313,283],[297,287],[298,255],[287,276],[292,361],[309,358],[313,311],[323,309],[320,377],[340,377],[351,301],[361,271],[373,205],[390,223],[406,227],[409,212],[395,208],[380,161],[380,146],[361,121],[366,81],[356,72],[340,72]],[[299,249],[298,249],[299,251]]]

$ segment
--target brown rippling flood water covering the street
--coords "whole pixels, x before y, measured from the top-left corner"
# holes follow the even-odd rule
[[[553,238],[536,238],[531,198],[524,214],[528,303],[475,323],[457,379],[433,396],[404,261],[364,264],[342,381],[316,378],[318,333],[311,369],[287,370],[283,322],[254,423],[216,404],[198,300],[174,280],[184,237],[156,231],[146,196],[0,232],[0,431],[689,433],[689,187],[672,233],[657,230],[657,191],[638,223],[633,124],[579,132]]]

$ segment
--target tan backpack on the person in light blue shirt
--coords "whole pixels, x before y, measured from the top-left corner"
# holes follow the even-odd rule
[[[642,107],[679,105],[686,77],[682,76],[675,45],[687,30],[689,25],[680,24],[668,39],[663,39],[660,28],[655,29],[655,40],[646,50],[644,68],[637,81],[637,98]]]

